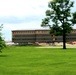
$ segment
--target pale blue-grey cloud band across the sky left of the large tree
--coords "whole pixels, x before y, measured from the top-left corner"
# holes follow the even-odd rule
[[[40,21],[42,15],[31,15],[31,16],[22,16],[22,17],[16,17],[16,16],[3,16],[0,17],[0,23],[3,24],[19,24],[19,23],[27,23],[27,22],[32,22],[32,21]]]

